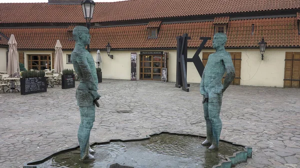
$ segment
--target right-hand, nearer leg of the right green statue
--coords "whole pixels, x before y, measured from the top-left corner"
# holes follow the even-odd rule
[[[222,94],[212,93],[208,100],[208,115],[212,124],[212,145],[209,149],[218,149],[222,130],[220,111],[222,105]]]

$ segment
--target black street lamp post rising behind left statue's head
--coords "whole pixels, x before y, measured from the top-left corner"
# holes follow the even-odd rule
[[[84,18],[86,20],[86,27],[89,31],[90,20],[92,19],[95,2],[93,0],[82,0],[80,4],[82,7]],[[89,44],[87,44],[87,51],[89,52]]]

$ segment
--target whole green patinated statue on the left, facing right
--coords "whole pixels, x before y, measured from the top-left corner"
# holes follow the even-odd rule
[[[78,129],[78,142],[80,146],[80,159],[94,159],[94,151],[89,147],[89,134],[95,119],[95,103],[100,97],[97,93],[98,79],[94,60],[85,46],[90,42],[89,31],[84,26],[73,29],[76,40],[71,53],[71,61],[80,83],[76,89],[77,105],[79,106],[81,122]]]

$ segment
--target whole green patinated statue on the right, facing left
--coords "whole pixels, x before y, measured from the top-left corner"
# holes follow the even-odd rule
[[[212,47],[216,52],[209,55],[200,83],[206,121],[206,140],[202,142],[202,145],[211,145],[209,149],[218,149],[222,130],[220,119],[222,96],[235,77],[231,56],[225,51],[226,41],[227,37],[224,33],[216,33],[213,36]],[[226,76],[222,84],[224,73]]]

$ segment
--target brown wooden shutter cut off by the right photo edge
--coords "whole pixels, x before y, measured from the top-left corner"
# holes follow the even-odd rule
[[[293,53],[291,87],[299,88],[300,82],[300,52]]]

